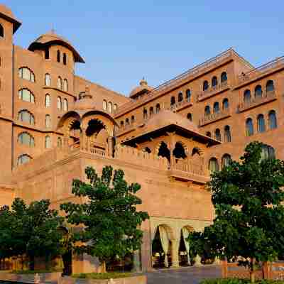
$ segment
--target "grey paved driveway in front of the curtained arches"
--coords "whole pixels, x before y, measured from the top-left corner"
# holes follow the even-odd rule
[[[204,278],[220,278],[219,266],[188,267],[146,273],[148,284],[197,284]]]

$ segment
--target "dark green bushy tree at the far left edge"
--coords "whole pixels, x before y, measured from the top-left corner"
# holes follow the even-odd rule
[[[16,198],[11,210],[9,207],[0,209],[0,247],[4,257],[26,254],[30,269],[34,270],[35,257],[44,256],[48,264],[51,257],[60,254],[60,226],[64,218],[49,207],[49,200],[31,202],[27,206]]]

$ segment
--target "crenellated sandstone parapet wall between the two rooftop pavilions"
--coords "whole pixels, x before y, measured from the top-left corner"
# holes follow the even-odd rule
[[[114,158],[126,161],[127,163],[146,165],[151,168],[158,168],[159,170],[168,170],[168,160],[166,158],[158,157],[153,153],[139,151],[129,146],[116,146]]]

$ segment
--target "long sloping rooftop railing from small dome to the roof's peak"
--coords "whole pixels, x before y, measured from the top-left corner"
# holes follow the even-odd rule
[[[225,60],[226,58],[230,58],[231,55],[233,54],[234,54],[234,50],[232,48],[229,48],[229,50],[224,51],[224,53],[220,53],[214,58],[211,58],[203,62],[202,64],[197,65],[187,70],[181,75],[178,75],[172,80],[169,80],[167,82],[164,82],[163,84],[160,84],[158,87],[155,87],[150,93],[148,93],[146,96],[141,97],[141,99],[136,99],[136,100],[132,100],[131,102],[127,102],[126,104],[122,105],[116,111],[114,115],[117,116],[119,114],[123,114],[124,112],[129,111],[129,109],[133,108],[134,106],[138,104],[148,102],[149,100],[155,97],[158,97],[158,95],[165,92],[165,90],[172,89],[173,87],[178,86],[182,81],[189,80],[190,77],[195,77],[197,75],[202,74],[202,72],[204,72],[204,70],[206,70],[208,67],[212,67],[213,65],[221,62],[222,60]]]

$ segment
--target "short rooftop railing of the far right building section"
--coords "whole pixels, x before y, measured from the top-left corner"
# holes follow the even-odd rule
[[[253,79],[263,77],[271,72],[284,68],[284,56],[281,58],[276,58],[275,60],[268,62],[260,67],[257,67],[247,73],[242,73],[237,78],[237,84],[241,85],[246,82],[250,82]],[[239,86],[238,86],[239,87]]]

